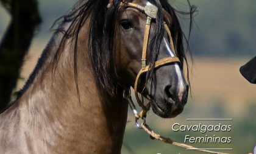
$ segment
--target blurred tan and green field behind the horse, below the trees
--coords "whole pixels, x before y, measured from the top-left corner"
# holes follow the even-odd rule
[[[29,73],[34,69],[43,45],[31,48],[23,66],[18,88],[21,88]],[[229,133],[215,133],[216,136],[231,136],[231,144],[196,144],[201,148],[232,147],[230,153],[252,152],[256,144],[256,85],[248,83],[238,69],[249,59],[244,58],[194,58],[191,75],[192,97],[188,100],[185,110],[174,119],[162,119],[152,111],[147,122],[161,135],[183,142],[185,135],[204,136],[193,131],[177,133],[171,130],[172,124],[197,124],[188,122],[187,118],[233,118],[233,121],[222,124],[232,125]],[[199,153],[192,152],[160,141],[153,141],[143,131],[134,126],[132,113],[129,111],[127,128],[124,136],[122,153]],[[204,123],[207,124],[207,123]],[[210,122],[208,124],[211,124]],[[209,133],[206,133],[207,135]],[[212,133],[210,133],[212,134]],[[209,135],[210,136],[210,135]]]

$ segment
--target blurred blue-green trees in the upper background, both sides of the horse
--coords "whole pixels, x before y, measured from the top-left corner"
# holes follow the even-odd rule
[[[75,2],[76,0],[38,1],[43,23],[38,29],[37,38],[48,40],[51,36],[49,27]],[[187,10],[186,0],[170,0],[170,2],[177,9]],[[198,9],[191,38],[194,55],[248,57],[255,54],[256,3],[254,0],[190,0],[190,2]],[[0,8],[0,18],[0,36],[2,36],[10,20],[3,7]]]

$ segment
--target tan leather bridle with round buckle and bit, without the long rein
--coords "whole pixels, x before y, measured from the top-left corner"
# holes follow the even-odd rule
[[[113,0],[110,0],[109,4],[108,4],[108,8],[111,7],[113,5]],[[140,111],[140,113],[138,113],[133,101],[132,101],[132,97],[130,96],[130,89],[126,89],[124,90],[123,96],[125,99],[128,100],[130,108],[132,109],[132,112],[135,116],[135,124],[137,126],[137,128],[141,128],[141,125],[138,124],[138,119],[143,119],[144,123],[146,124],[146,113],[149,111],[150,107],[151,107],[151,103],[149,102],[147,105],[144,105],[143,102],[140,100],[140,97],[138,96],[138,80],[140,79],[140,76],[142,74],[144,74],[145,72],[148,72],[150,69],[150,66],[147,65],[147,60],[146,60],[146,55],[147,55],[147,49],[148,49],[148,40],[149,40],[149,32],[151,29],[151,21],[152,19],[156,19],[157,18],[157,12],[158,9],[157,7],[155,7],[155,5],[152,4],[147,4],[146,6],[141,6],[132,2],[120,2],[119,6],[125,6],[125,7],[131,7],[133,9],[137,9],[140,10],[140,12],[144,13],[147,16],[147,21],[146,21],[146,26],[145,26],[145,30],[144,30],[144,40],[143,40],[143,50],[142,50],[142,58],[141,58],[141,69],[138,72],[138,75],[136,77],[135,80],[135,84],[134,84],[134,92],[135,92],[135,97],[137,99],[138,105],[140,105],[140,107],[143,109],[142,111]],[[165,10],[164,10],[165,11]],[[168,37],[170,40],[170,44],[171,44],[171,49],[172,51],[175,51],[174,48],[174,43],[172,41],[172,37],[171,37],[171,31],[169,30],[169,27],[167,26],[166,23],[163,23],[163,26],[165,27],[166,32],[168,33]],[[167,57],[167,58],[163,58],[162,60],[158,60],[155,61],[155,68],[159,68],[160,66],[166,65],[166,64],[171,64],[171,63],[180,63],[180,60],[178,57]]]

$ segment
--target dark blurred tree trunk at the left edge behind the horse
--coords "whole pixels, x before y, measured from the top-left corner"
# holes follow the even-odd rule
[[[0,43],[0,110],[10,102],[34,30],[41,23],[36,0],[1,0],[1,4],[11,21]]]

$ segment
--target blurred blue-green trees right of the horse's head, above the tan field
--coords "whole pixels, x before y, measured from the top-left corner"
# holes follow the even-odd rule
[[[194,55],[204,57],[256,55],[255,0],[190,1],[199,10],[194,18],[191,38]]]

